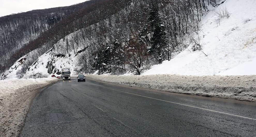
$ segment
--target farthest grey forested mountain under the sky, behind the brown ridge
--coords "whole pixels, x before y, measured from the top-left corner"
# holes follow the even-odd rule
[[[85,2],[68,7],[33,10],[0,17],[0,61],[2,62],[0,72],[5,69],[2,67],[8,67],[10,63],[20,58],[11,58],[18,50],[47,32],[63,18],[80,11],[89,4]]]

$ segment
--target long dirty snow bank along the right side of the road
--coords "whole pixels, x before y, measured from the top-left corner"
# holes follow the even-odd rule
[[[89,75],[113,84],[156,89],[174,93],[256,100],[256,76]]]

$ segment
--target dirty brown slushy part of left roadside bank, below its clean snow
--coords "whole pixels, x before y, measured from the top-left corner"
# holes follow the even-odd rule
[[[57,83],[58,80],[49,80],[46,83],[32,84],[20,87],[6,96],[1,104],[0,134],[4,136],[18,136],[24,126],[26,115],[36,95],[45,88]]]

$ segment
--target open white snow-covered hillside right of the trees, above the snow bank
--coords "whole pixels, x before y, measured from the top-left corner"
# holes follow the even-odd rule
[[[255,75],[256,1],[226,0],[210,8],[200,22],[202,51],[190,45],[173,60],[155,65],[142,75]],[[217,13],[229,13],[220,17]],[[198,36],[195,36],[198,39]]]

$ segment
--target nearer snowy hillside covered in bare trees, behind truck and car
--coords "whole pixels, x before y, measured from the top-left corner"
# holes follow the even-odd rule
[[[207,7],[219,5],[215,0],[153,2],[95,1],[13,54],[18,60],[1,78],[47,77],[64,66],[73,74],[140,74],[184,50]]]

